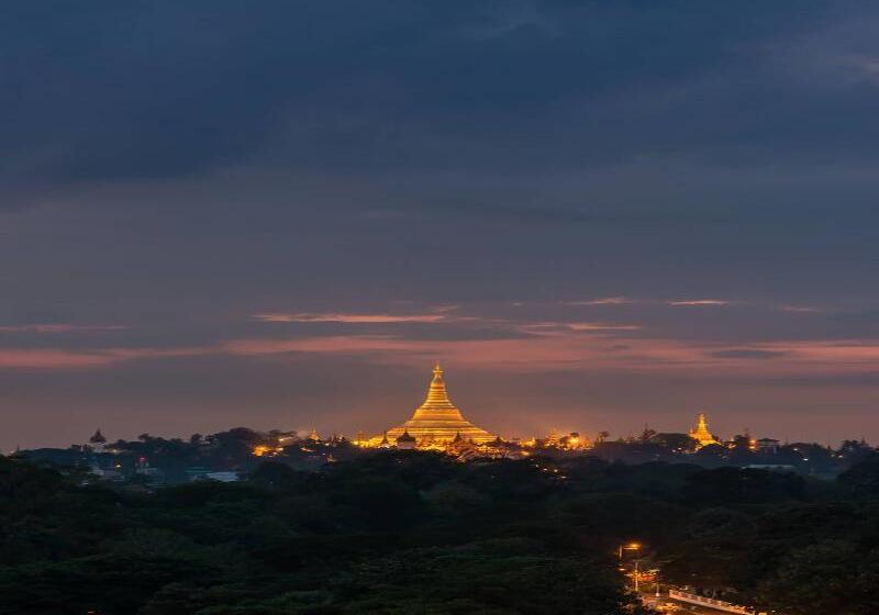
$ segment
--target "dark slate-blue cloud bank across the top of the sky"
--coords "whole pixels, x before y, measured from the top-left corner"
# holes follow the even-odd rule
[[[577,168],[870,139],[847,133],[869,88],[803,96],[770,62],[849,16],[822,3],[56,1],[8,15],[0,111],[14,176],[175,177],[254,160]],[[834,108],[846,111],[835,123]],[[809,122],[816,112],[824,122]]]

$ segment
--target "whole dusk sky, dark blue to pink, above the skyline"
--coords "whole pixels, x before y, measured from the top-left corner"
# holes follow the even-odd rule
[[[10,0],[0,449],[453,401],[879,441],[879,7]]]

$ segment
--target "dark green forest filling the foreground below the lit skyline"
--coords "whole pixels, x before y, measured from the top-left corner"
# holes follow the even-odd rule
[[[879,454],[835,480],[376,451],[155,490],[0,457],[2,614],[646,613],[619,569],[788,615],[879,612]]]

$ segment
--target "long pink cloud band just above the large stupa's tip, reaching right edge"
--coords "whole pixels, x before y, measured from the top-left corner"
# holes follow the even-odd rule
[[[608,337],[547,331],[525,338],[420,340],[394,336],[326,336],[301,339],[238,339],[224,348],[233,355],[314,353],[361,356],[380,362],[420,365],[443,360],[498,371],[558,369],[680,371],[719,376],[769,377],[828,374],[876,369],[879,342],[791,342],[748,345],[743,351],[717,344],[663,338],[626,338],[607,350]],[[767,360],[766,357],[774,357]]]

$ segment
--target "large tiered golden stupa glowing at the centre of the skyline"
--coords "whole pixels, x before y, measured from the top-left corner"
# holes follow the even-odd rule
[[[438,365],[433,369],[433,380],[424,403],[415,409],[412,418],[388,429],[385,436],[393,444],[403,433],[415,438],[419,448],[442,447],[455,440],[486,444],[497,438],[464,418],[460,410],[448,399],[443,369]]]

